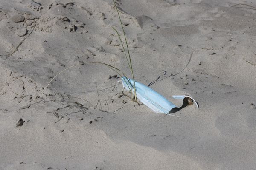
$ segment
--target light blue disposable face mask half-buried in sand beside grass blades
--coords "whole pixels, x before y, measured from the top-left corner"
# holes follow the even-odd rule
[[[128,79],[126,77],[122,77],[121,80],[123,88],[134,93],[134,80]],[[192,97],[187,95],[172,96],[174,99],[183,100],[183,105],[181,107],[177,107],[172,102],[164,98],[161,94],[157,93],[153,89],[149,88],[146,85],[143,85],[140,82],[135,81],[135,88],[137,99],[139,99],[140,102],[142,102],[148,108],[151,108],[156,113],[168,114],[171,113],[172,110],[175,110],[174,108],[181,109],[186,105],[193,104],[195,104],[196,107],[199,108],[198,103]]]

